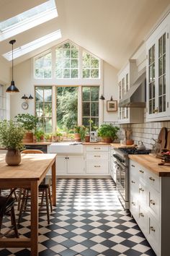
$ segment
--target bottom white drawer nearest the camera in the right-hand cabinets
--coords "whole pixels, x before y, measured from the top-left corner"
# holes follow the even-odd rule
[[[147,239],[156,255],[160,255],[160,225],[152,215],[148,216]]]

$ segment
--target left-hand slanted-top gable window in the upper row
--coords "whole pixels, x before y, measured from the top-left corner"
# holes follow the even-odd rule
[[[51,78],[51,52],[38,56],[35,59],[35,77],[36,78]]]

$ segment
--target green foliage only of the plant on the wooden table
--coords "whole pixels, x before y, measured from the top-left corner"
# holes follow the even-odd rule
[[[6,149],[21,150],[24,128],[10,120],[0,121],[0,145]]]

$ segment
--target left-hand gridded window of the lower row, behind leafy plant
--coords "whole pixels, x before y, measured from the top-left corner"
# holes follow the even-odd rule
[[[35,115],[39,118],[39,128],[52,132],[52,87],[35,87]]]

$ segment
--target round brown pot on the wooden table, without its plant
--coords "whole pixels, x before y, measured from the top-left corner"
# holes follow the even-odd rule
[[[9,166],[18,166],[21,162],[21,153],[19,150],[9,149],[6,152],[5,161]]]

